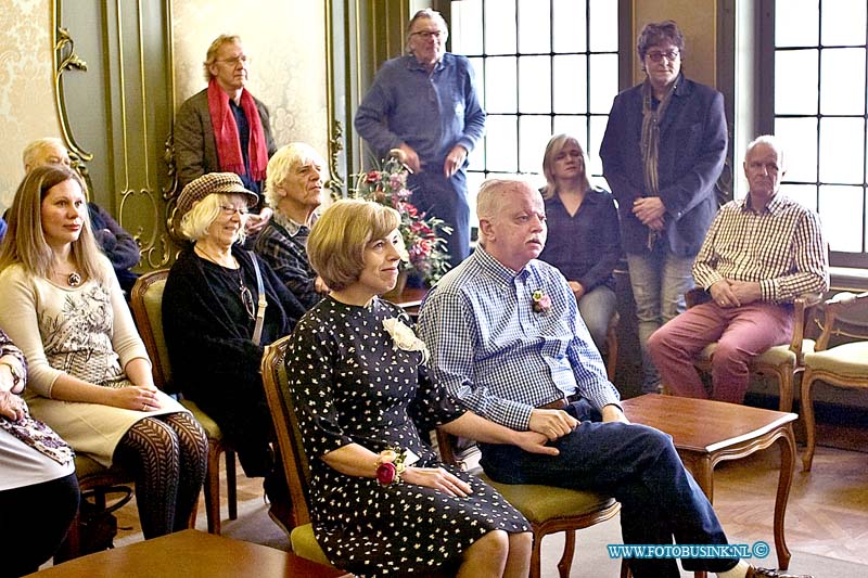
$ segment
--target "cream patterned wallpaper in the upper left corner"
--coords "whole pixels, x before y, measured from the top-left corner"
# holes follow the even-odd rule
[[[21,153],[40,137],[60,136],[51,68],[49,0],[0,0],[0,209],[12,204],[24,168]]]

